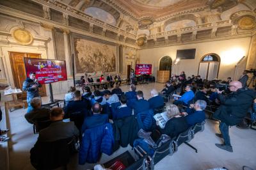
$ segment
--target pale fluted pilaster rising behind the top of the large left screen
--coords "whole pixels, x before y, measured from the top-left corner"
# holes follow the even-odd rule
[[[41,26],[44,28],[44,36],[49,37],[49,40],[47,41],[47,58],[49,59],[55,59],[56,51],[54,47],[54,35],[53,30],[54,26],[50,26],[47,24],[41,24]]]

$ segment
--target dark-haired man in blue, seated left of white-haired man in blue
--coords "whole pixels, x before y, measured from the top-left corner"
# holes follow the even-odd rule
[[[150,109],[149,103],[147,100],[143,98],[143,92],[137,91],[138,101],[134,102],[134,114],[138,114],[139,112],[148,111]]]

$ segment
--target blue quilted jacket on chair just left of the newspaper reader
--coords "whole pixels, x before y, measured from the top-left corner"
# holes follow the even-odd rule
[[[150,109],[147,111],[139,112],[136,115],[139,129],[143,129],[147,132],[151,132],[156,127],[156,121],[154,120],[154,112]]]

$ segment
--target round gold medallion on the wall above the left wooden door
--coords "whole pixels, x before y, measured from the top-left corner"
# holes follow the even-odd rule
[[[33,36],[26,29],[15,29],[12,32],[13,38],[22,45],[29,45],[33,42]]]

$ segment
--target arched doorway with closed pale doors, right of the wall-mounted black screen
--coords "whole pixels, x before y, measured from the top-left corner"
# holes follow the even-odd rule
[[[198,75],[202,79],[207,79],[212,81],[218,78],[218,73],[220,69],[220,56],[217,54],[205,54],[199,63]]]

